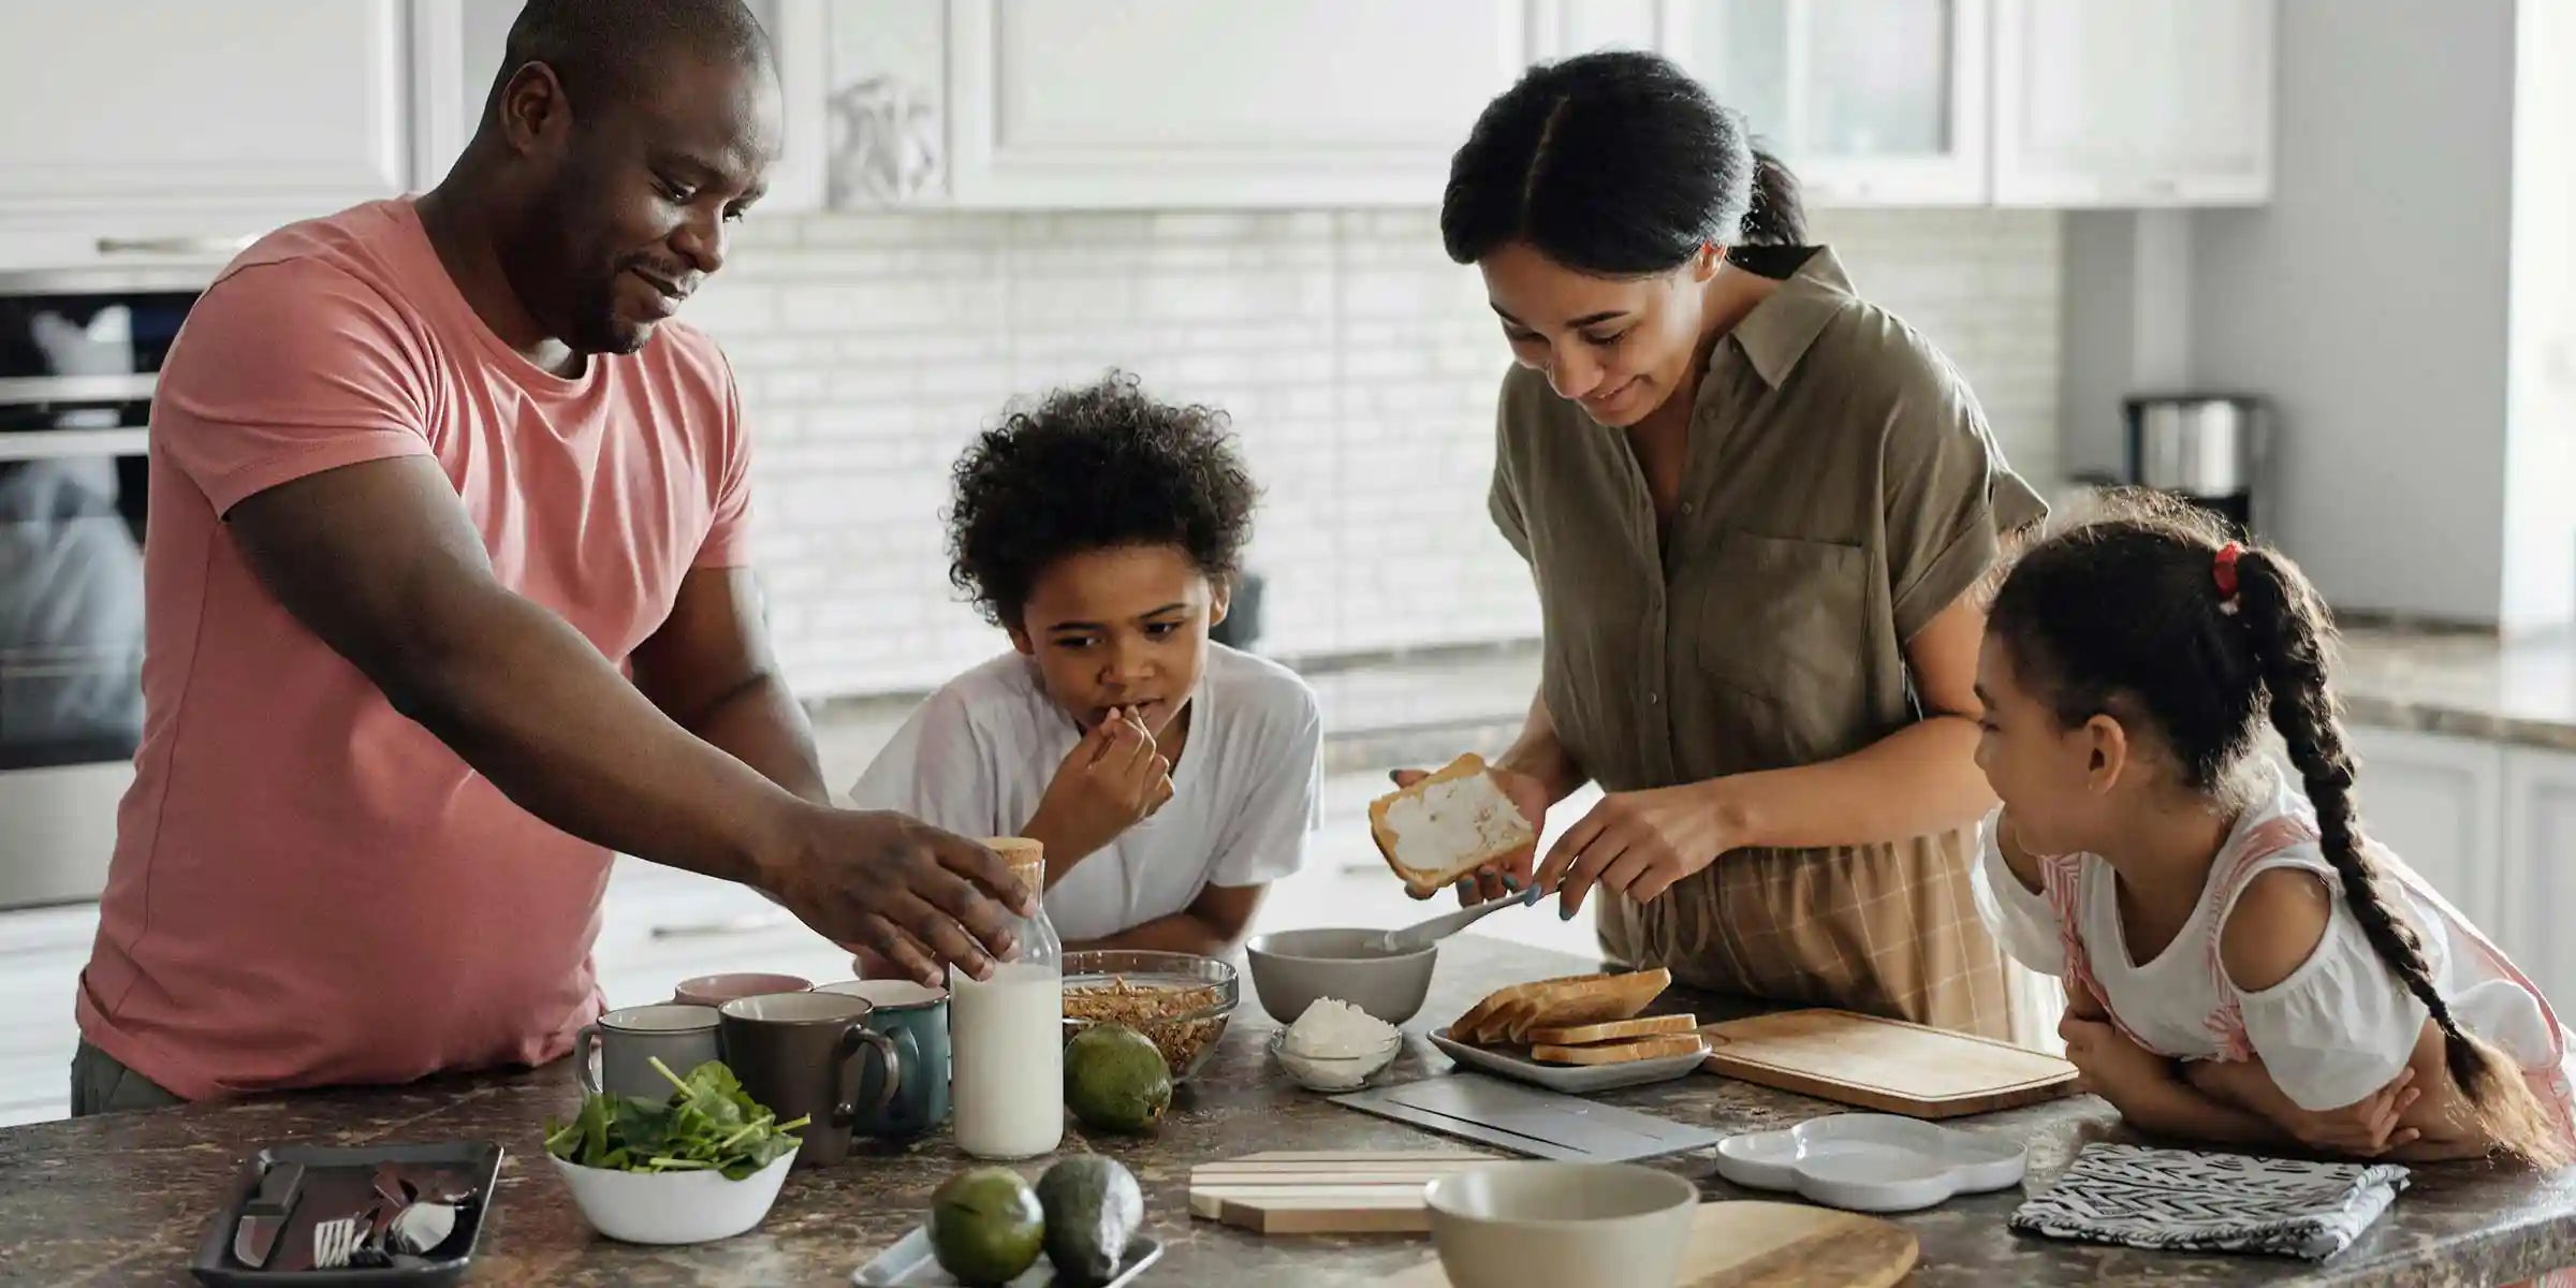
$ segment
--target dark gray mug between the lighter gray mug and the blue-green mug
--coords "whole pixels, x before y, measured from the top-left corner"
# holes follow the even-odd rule
[[[829,992],[773,992],[724,1005],[724,1061],[742,1090],[796,1128],[796,1167],[850,1157],[850,1131],[876,1118],[904,1084],[904,1056],[894,1041],[868,1028],[866,997]],[[863,1056],[863,1048],[873,1059]],[[876,1100],[860,1100],[866,1064],[884,1069]]]

